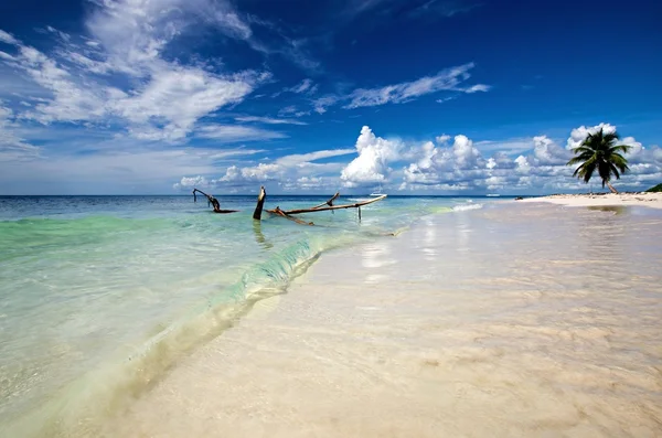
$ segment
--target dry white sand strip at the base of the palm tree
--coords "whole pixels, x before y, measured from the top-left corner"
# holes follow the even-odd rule
[[[549,202],[566,206],[648,206],[662,209],[662,193],[554,194],[517,202]]]

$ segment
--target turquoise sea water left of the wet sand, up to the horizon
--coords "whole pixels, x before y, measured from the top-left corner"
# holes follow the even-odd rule
[[[265,207],[325,197],[268,196]],[[361,222],[355,210],[306,215],[310,227],[254,222],[255,196],[218,200],[239,212],[192,196],[0,197],[0,430],[68,435],[65,413],[89,419],[139,395],[323,252],[485,201],[388,197]]]

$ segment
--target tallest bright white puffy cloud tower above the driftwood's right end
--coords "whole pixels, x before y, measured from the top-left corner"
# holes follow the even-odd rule
[[[402,148],[401,141],[376,137],[364,126],[356,139],[359,157],[342,170],[340,179],[349,188],[384,182],[391,173],[388,163],[399,159]]]

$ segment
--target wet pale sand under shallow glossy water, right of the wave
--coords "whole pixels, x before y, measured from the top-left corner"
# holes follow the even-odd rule
[[[660,437],[661,225],[511,204],[324,254],[99,435]]]

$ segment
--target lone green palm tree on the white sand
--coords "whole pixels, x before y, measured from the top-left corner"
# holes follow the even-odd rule
[[[621,173],[630,170],[628,168],[628,160],[619,153],[627,153],[630,150],[630,146],[616,145],[619,138],[617,132],[604,132],[602,128],[596,133],[589,133],[581,145],[573,149],[575,157],[568,161],[567,165],[581,163],[575,170],[573,177],[584,179],[584,182],[588,183],[597,169],[598,174],[602,179],[602,189],[607,184],[611,193],[618,193],[609,183],[609,180],[611,180],[612,175],[616,175],[618,180]]]

